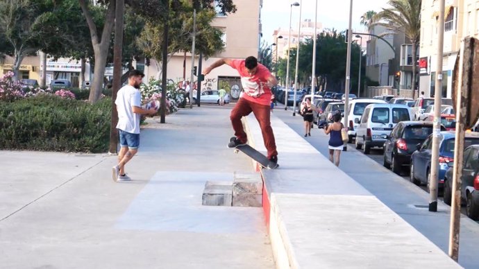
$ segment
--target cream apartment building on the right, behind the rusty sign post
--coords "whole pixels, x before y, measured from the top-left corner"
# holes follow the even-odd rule
[[[444,52],[442,55],[442,97],[452,95],[452,74],[462,38],[479,36],[479,1],[446,0],[444,14]],[[419,92],[432,96],[437,76],[437,21],[439,1],[423,0],[419,54]]]

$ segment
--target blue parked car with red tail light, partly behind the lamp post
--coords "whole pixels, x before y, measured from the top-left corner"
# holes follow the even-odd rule
[[[479,133],[466,132],[464,146],[479,144]],[[444,131],[439,135],[439,189],[444,186],[444,175],[448,162],[454,161],[455,132]],[[417,150],[411,155],[410,180],[414,184],[429,184],[432,153],[432,134],[417,145]],[[428,188],[429,189],[429,188]]]

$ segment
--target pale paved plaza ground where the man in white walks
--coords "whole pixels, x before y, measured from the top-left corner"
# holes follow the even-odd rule
[[[132,182],[116,156],[2,151],[0,268],[274,268],[262,209],[201,205],[207,180],[252,172],[226,148],[230,107],[154,119]]]

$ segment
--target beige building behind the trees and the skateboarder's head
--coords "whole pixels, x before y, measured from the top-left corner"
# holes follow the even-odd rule
[[[224,15],[217,12],[217,17],[212,21],[212,26],[223,31],[224,51],[217,53],[214,57],[203,58],[202,68],[208,67],[220,58],[244,59],[248,56],[258,58],[261,35],[261,17],[260,10],[261,0],[235,0],[237,11],[232,14]],[[185,63],[185,80],[191,80],[191,54],[186,54]],[[176,53],[171,56],[168,62],[167,77],[178,83],[183,80],[183,59],[184,53]],[[136,63],[143,65],[143,63]],[[194,66],[198,66],[199,57],[196,56]],[[161,65],[151,60],[149,66],[142,67],[146,78],[158,77]],[[194,77],[194,87],[196,86],[197,77]],[[228,65],[223,65],[213,69],[211,73],[205,76],[205,80],[201,83],[201,90],[204,89],[226,89],[231,98],[236,100],[240,97],[242,89],[240,76],[237,71]]]

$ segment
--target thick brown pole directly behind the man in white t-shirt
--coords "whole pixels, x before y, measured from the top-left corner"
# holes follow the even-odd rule
[[[123,49],[123,13],[125,8],[124,0],[116,0],[115,5],[115,45],[113,47],[113,85],[112,85],[112,120],[110,123],[110,146],[108,153],[116,155],[118,150],[118,112],[115,100],[117,92],[121,87],[121,50]],[[44,70],[46,70],[44,68]]]

